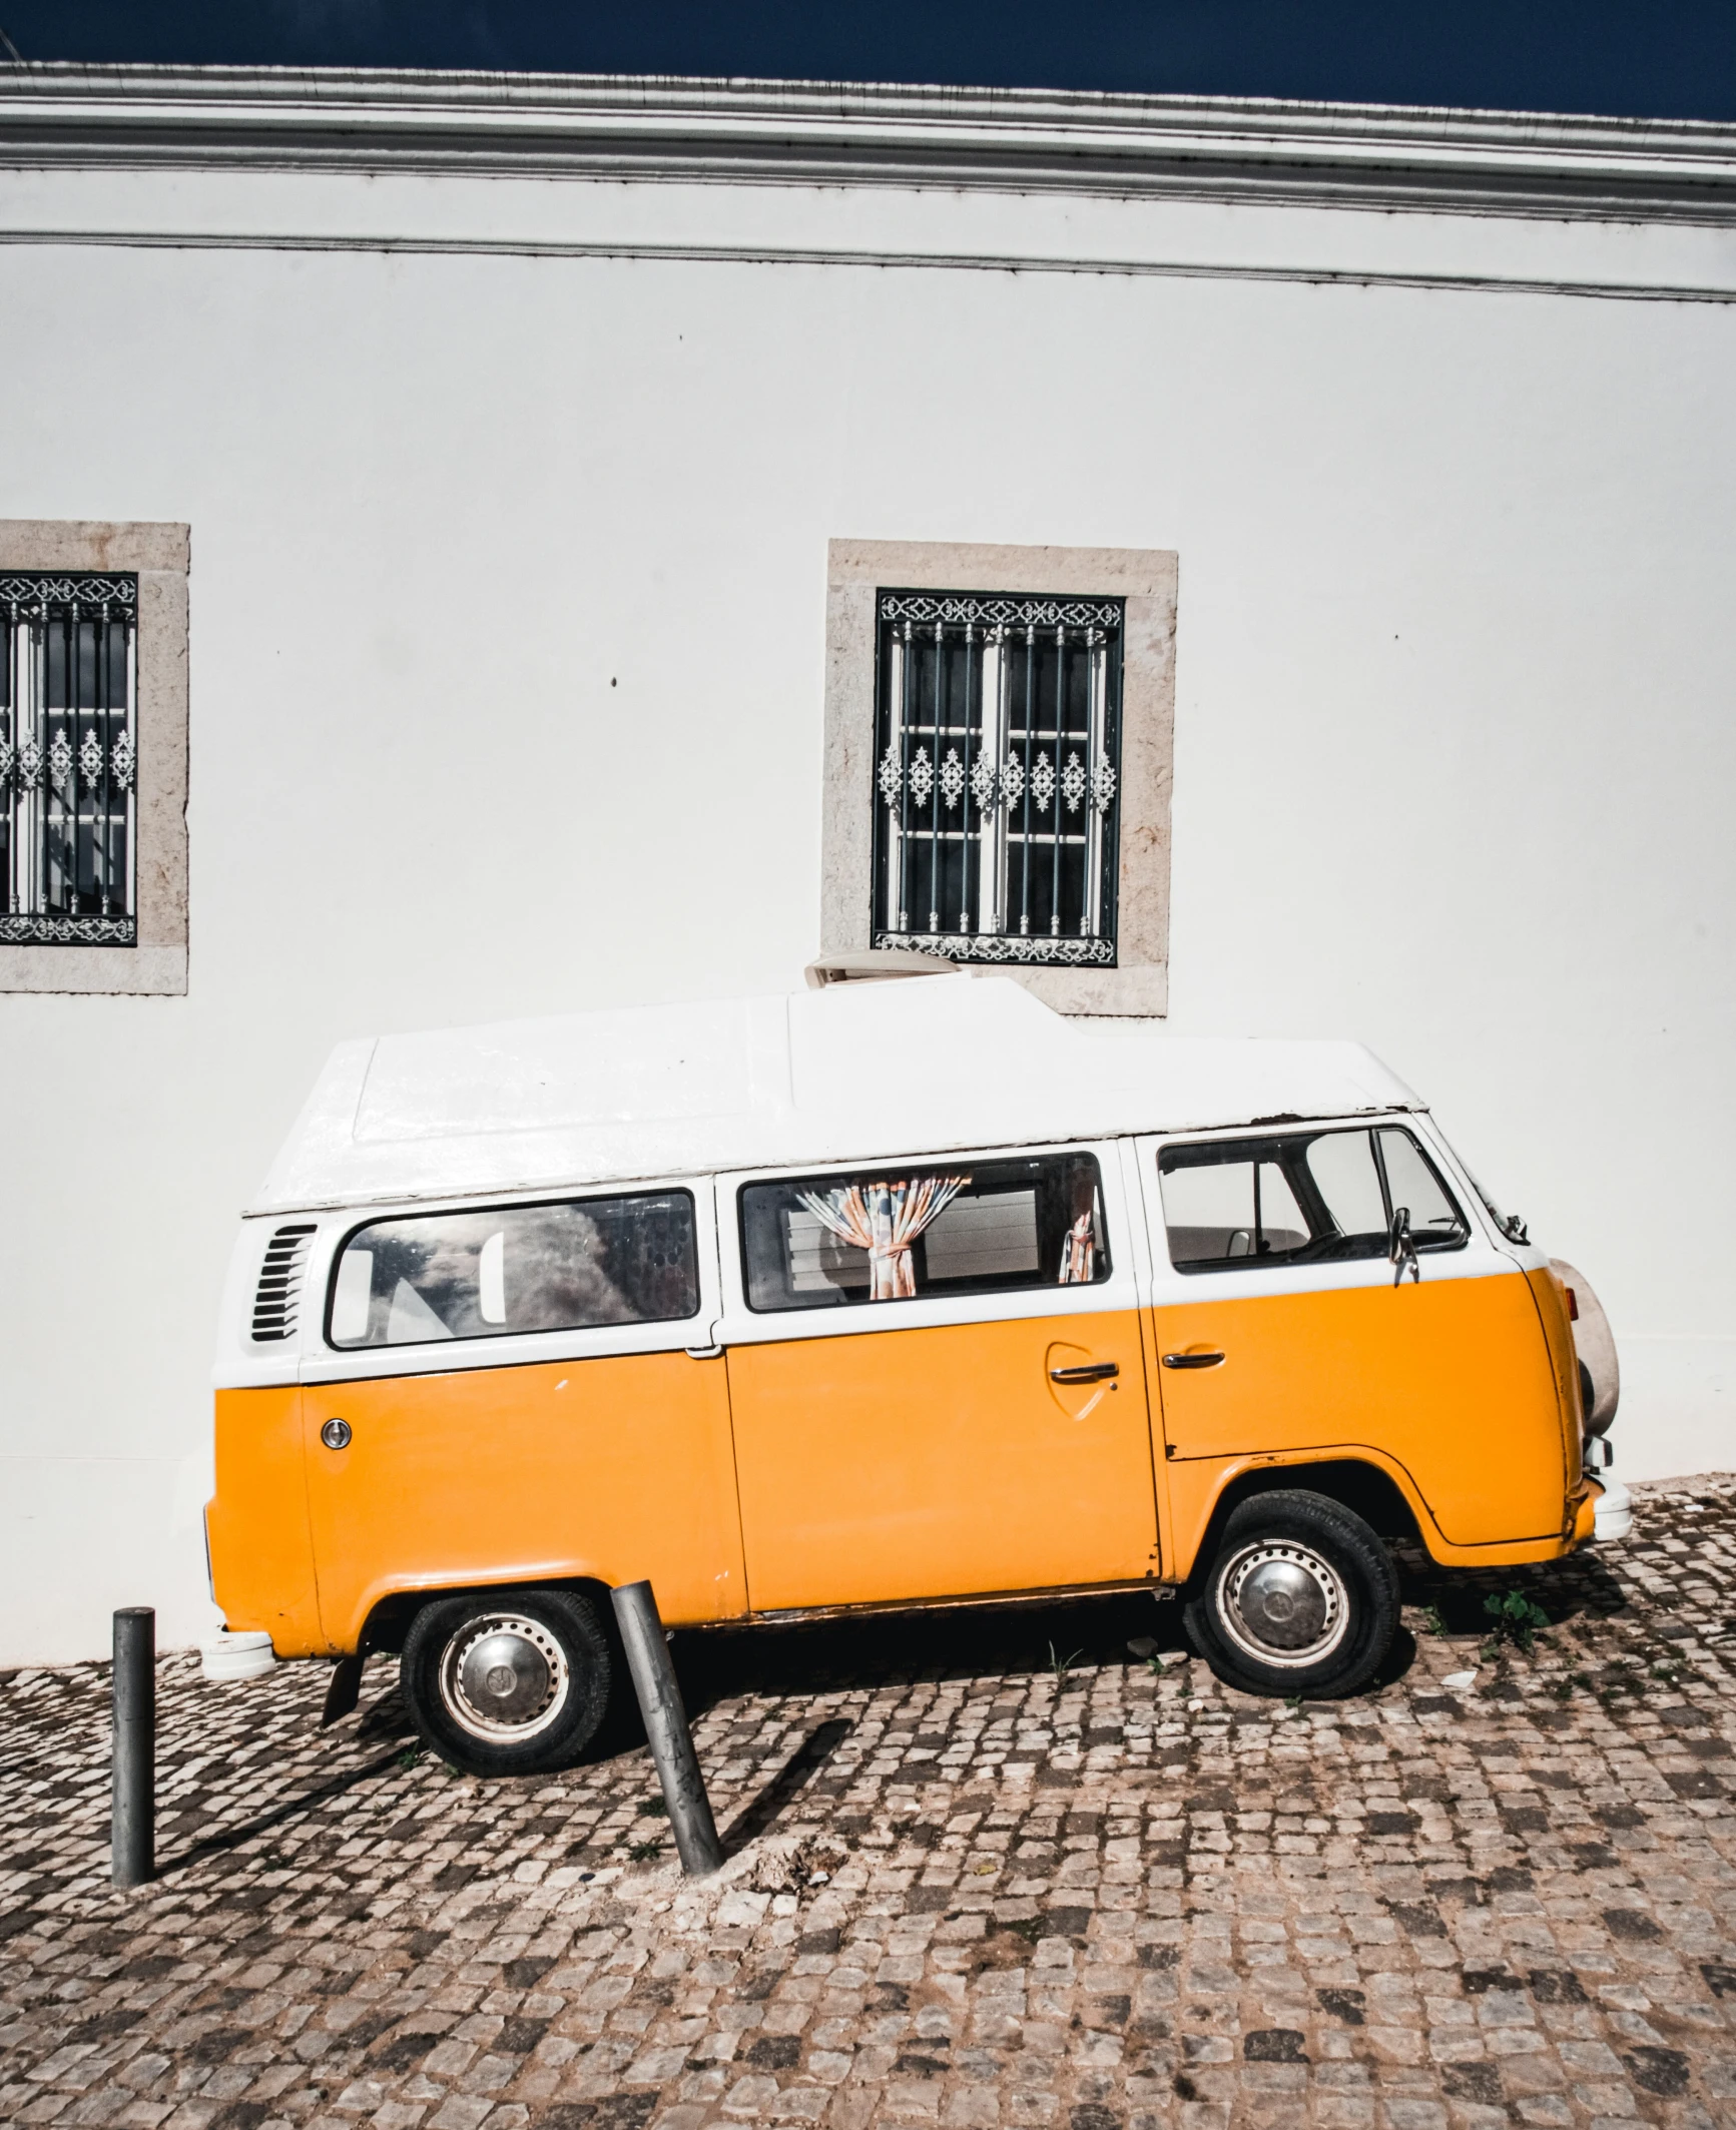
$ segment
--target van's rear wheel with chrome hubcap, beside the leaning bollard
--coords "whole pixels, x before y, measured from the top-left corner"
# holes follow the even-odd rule
[[[494,1591],[422,1606],[398,1681],[411,1721],[454,1768],[547,1774],[571,1768],[603,1725],[616,1657],[590,1598]]]

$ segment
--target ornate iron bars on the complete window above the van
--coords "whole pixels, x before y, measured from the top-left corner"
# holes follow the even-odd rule
[[[1123,601],[875,605],[873,944],[1114,967]]]

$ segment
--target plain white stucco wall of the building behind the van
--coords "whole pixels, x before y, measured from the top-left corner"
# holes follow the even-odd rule
[[[993,204],[1108,243],[1103,202],[400,204],[475,232],[556,192],[652,234],[946,249]],[[0,179],[45,230],[379,198]],[[1216,258],[1359,219],[1395,264],[1549,249],[1140,215]],[[1666,279],[1723,243],[1555,236]],[[211,1621],[219,1282],[334,1039],[799,982],[833,535],[1180,552],[1172,1025],[1372,1044],[1600,1289],[1619,1472],[1732,1461],[1727,305],[36,243],[0,307],[6,513],[194,539],[190,995],[0,999],[0,1661],[96,1653],[124,1602]]]

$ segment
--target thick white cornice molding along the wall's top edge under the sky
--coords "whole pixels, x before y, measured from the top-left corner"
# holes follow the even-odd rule
[[[0,75],[0,166],[946,185],[1736,224],[1736,126],[1059,89],[49,64]]]

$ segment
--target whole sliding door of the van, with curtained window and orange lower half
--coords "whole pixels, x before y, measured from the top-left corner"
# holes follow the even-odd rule
[[[1114,1148],[737,1178],[720,1218],[754,1612],[1157,1574]]]

